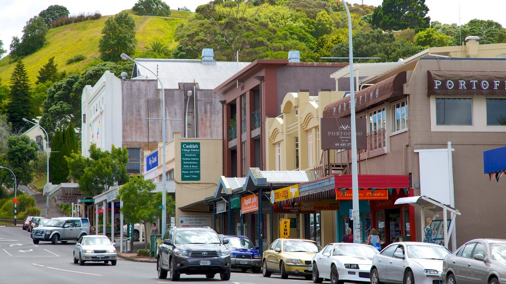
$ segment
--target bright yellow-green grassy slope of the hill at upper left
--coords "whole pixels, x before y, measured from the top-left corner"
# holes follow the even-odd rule
[[[131,14],[132,15],[132,14]],[[132,15],[136,24],[137,53],[153,41],[160,41],[173,49],[178,45],[174,41],[177,25],[186,22],[190,12],[171,11],[171,17],[151,17]],[[98,20],[85,21],[52,28],[46,36],[47,42],[37,52],[23,58],[31,84],[37,80],[38,71],[51,57],[55,57],[59,71],[80,73],[94,58],[100,57],[99,40],[105,21],[112,16],[103,16]],[[6,43],[4,43],[6,44]],[[85,60],[67,64],[67,60],[82,55]],[[135,58],[134,55],[131,55]],[[0,60],[0,78],[2,84],[10,84],[11,74],[16,63],[9,64],[9,56]]]

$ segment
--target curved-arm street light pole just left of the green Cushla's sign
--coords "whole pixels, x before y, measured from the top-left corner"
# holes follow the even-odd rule
[[[139,66],[142,66],[144,67],[146,70],[148,70],[149,72],[151,72],[155,77],[156,77],[156,80],[158,80],[158,82],[160,83],[160,87],[161,87],[161,108],[162,108],[162,111],[161,111],[161,143],[163,144],[162,145],[162,155],[161,155],[161,163],[162,163],[162,176],[161,176],[161,203],[162,203],[162,210],[161,210],[161,235],[163,236],[165,234],[165,229],[166,229],[166,224],[167,224],[167,207],[166,207],[166,195],[167,195],[167,190],[166,190],[166,187],[165,187],[165,182],[166,182],[166,179],[167,179],[167,176],[166,176],[166,169],[165,169],[165,91],[163,90],[163,85],[161,83],[161,80],[160,78],[158,77],[158,75],[156,75],[153,71],[149,70],[146,66],[140,64],[139,62],[135,61],[134,59],[132,59],[130,56],[122,53],[120,55],[120,57],[124,60],[130,60],[130,61],[133,61],[134,63],[136,63],[137,65]],[[168,120],[181,120],[181,119],[168,119]]]

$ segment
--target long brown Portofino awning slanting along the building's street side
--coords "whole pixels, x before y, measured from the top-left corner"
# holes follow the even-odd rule
[[[361,112],[368,108],[375,107],[385,101],[395,101],[404,97],[404,84],[406,83],[406,71],[395,76],[375,83],[363,90],[355,92],[355,111]],[[351,97],[330,103],[323,111],[324,118],[347,117],[351,114]]]

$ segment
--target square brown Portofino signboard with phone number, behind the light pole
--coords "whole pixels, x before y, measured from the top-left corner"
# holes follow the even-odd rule
[[[357,149],[367,149],[367,120],[355,120]],[[320,119],[321,149],[351,149],[351,118]]]

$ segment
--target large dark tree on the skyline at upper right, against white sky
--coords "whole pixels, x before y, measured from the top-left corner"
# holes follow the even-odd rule
[[[383,30],[424,29],[431,21],[428,12],[425,0],[383,0],[372,13],[371,25]]]

